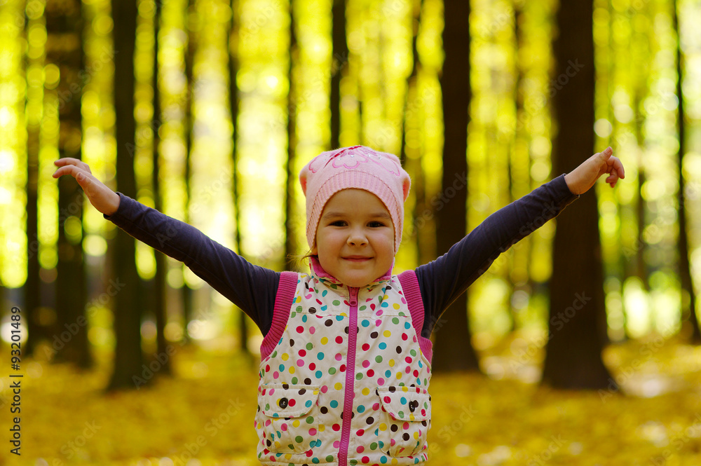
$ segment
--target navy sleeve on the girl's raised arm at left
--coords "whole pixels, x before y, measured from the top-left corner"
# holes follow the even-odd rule
[[[183,262],[236,304],[265,335],[273,319],[280,273],[254,266],[197,228],[119,195],[119,207],[103,217],[139,241]]]

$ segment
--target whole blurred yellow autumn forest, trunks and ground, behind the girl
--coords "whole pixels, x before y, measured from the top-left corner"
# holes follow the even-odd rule
[[[260,331],[54,160],[291,270],[299,170],[355,144],[411,175],[395,273],[608,145],[625,165],[437,322],[432,462],[701,464],[699,24],[696,0],[0,0],[27,464],[255,458]]]

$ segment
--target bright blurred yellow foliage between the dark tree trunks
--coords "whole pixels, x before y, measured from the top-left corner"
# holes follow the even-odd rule
[[[96,177],[115,188],[116,142],[112,90],[114,53],[110,2],[83,0],[83,81],[71,92],[57,89],[60,68],[52,50],[67,37],[49,40],[46,1],[0,1],[0,285],[3,327],[9,340],[8,303],[22,303],[28,254],[39,258],[41,324],[53,310],[58,219],[68,215],[65,235],[80,244],[88,267],[88,338],[98,359],[114,350],[108,242],[116,227],[88,203],[60,212],[51,177],[60,137],[79,144]],[[158,0],[156,0],[158,1]],[[156,24],[156,1],[138,1],[135,52],[133,155],[137,200],[196,226],[252,263],[284,270],[285,199],[292,202],[297,254],[306,252],[304,196],[291,172],[329,149],[329,85],[341,73],[341,146],[366,144],[400,153],[414,180],[407,200],[404,240],[395,273],[415,268],[435,254],[426,233],[433,219],[418,204],[440,193],[442,172],[443,11],[441,0],[347,0],[348,57],[332,56],[332,0],[166,0]],[[554,0],[472,0],[472,85],[468,132],[468,224],[559,175],[551,170],[550,98],[566,85],[553,78]],[[594,1],[597,150],[611,145],[625,164],[615,190],[597,186],[605,266],[606,313],[611,341],[673,336],[682,331],[679,275],[679,170],[686,181],[690,270],[701,283],[701,4],[694,0]],[[290,53],[290,10],[295,40]],[[679,27],[674,25],[674,8]],[[232,22],[235,29],[231,30]],[[155,28],[158,27],[158,88],[154,89]],[[416,34],[414,63],[413,40]],[[682,76],[677,73],[681,43]],[[229,74],[230,57],[238,70]],[[416,68],[415,72],[412,71]],[[683,95],[678,95],[681,79]],[[158,92],[155,92],[155,91]],[[238,92],[232,112],[231,92]],[[154,125],[154,95],[161,121]],[[58,109],[81,99],[80,134],[60,135]],[[686,112],[686,153],[679,167],[677,112]],[[573,109],[576,111],[576,109]],[[288,125],[293,117],[294,125]],[[158,134],[154,133],[158,130]],[[158,196],[154,196],[154,137],[158,137]],[[236,158],[232,151],[236,149]],[[460,156],[460,154],[455,154]],[[27,236],[29,160],[36,160],[38,227]],[[420,189],[418,189],[420,187]],[[417,192],[423,199],[417,199]],[[238,194],[238,196],[237,196]],[[421,219],[421,221],[418,221]],[[423,235],[414,226],[421,225]],[[472,343],[489,350],[517,331],[526,341],[547,334],[547,281],[552,273],[555,223],[545,224],[470,287]],[[140,277],[151,280],[156,259],[137,245]],[[239,346],[240,310],[168,259],[168,321],[165,337],[184,332],[207,349]],[[183,294],[184,288],[191,294]],[[191,315],[184,317],[183,296]],[[697,308],[698,308],[697,304]],[[251,327],[253,327],[251,325]],[[686,329],[685,331],[688,331]],[[683,336],[683,335],[682,335]],[[257,352],[261,336],[248,334]],[[142,345],[153,348],[156,325],[147,316]],[[44,342],[44,344],[48,344]],[[696,356],[698,354],[696,353]],[[50,358],[48,358],[50,359]],[[193,366],[205,376],[213,369]],[[503,371],[488,374],[503,376]],[[533,382],[538,375],[526,374]]]

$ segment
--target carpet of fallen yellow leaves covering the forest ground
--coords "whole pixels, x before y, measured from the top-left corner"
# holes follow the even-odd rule
[[[509,348],[483,356],[510,364]],[[539,359],[519,364],[539,370]],[[620,390],[433,376],[429,464],[701,464],[701,348],[650,338],[612,345],[604,359]],[[23,360],[22,456],[12,464],[257,465],[256,364],[187,347],[173,361],[175,376],[105,394],[109,364],[79,372]],[[6,444],[11,392],[1,381]]]

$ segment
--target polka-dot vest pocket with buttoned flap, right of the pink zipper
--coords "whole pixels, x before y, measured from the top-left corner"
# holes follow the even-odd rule
[[[426,446],[431,426],[431,397],[417,387],[379,387],[376,389],[387,413],[375,431],[381,451],[390,456],[411,456]]]

